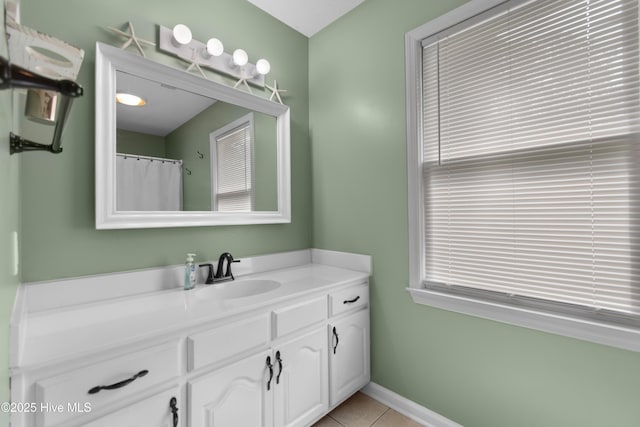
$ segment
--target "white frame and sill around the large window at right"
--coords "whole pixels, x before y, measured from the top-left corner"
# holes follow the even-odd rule
[[[423,287],[424,262],[422,182],[422,42],[457,31],[461,25],[484,20],[487,13],[504,11],[524,0],[471,0],[405,34],[405,81],[407,112],[407,175],[409,223],[409,287],[413,302],[515,326],[554,333],[598,344],[640,351],[640,329],[611,324],[567,313],[549,312],[509,302],[490,301]],[[482,16],[480,16],[482,15]]]

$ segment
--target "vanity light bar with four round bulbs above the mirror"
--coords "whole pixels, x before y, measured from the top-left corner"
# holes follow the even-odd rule
[[[233,54],[226,53],[224,45],[216,38],[211,38],[206,43],[193,39],[191,30],[184,24],[178,24],[173,29],[161,25],[158,46],[161,51],[187,61],[190,64],[187,71],[196,68],[205,78],[200,67],[226,74],[245,85],[248,83],[264,87],[265,75],[271,70],[271,65],[266,59],[259,59],[256,64],[249,62],[249,55],[243,49],[236,49]]]

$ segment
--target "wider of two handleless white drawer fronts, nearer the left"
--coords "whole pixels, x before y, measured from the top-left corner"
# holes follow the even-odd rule
[[[266,347],[271,332],[269,320],[269,314],[265,313],[190,335],[187,339],[189,370],[221,362],[251,349]]]

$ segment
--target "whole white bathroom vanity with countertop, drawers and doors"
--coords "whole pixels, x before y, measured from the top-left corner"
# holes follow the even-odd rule
[[[23,285],[12,425],[308,426],[369,382],[369,257],[242,261],[191,291],[181,267]]]

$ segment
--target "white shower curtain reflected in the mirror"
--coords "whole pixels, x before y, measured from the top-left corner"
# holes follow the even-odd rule
[[[181,211],[182,161],[116,155],[118,211]]]

